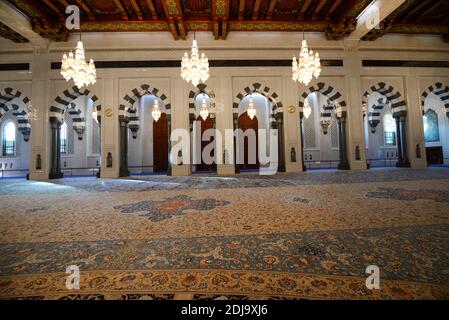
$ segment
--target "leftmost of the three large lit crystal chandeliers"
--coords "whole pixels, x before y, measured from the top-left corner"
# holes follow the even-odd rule
[[[72,51],[69,52],[68,56],[64,53],[61,62],[61,75],[66,81],[73,79],[73,82],[79,89],[96,82],[97,71],[94,61],[90,59],[89,63],[86,62],[84,46],[81,40],[78,41],[75,55],[73,55]]]

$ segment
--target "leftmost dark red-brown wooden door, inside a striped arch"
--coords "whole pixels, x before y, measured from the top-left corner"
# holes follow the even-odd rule
[[[168,169],[168,120],[165,113],[156,122],[153,120],[153,171]]]

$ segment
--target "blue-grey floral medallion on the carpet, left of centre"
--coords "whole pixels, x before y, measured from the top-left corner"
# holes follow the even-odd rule
[[[186,214],[186,210],[211,210],[218,206],[225,206],[229,201],[219,201],[216,199],[200,199],[193,200],[192,197],[180,195],[172,198],[167,198],[162,201],[140,201],[137,203],[124,204],[115,206],[114,209],[119,209],[122,213],[135,213],[147,211],[142,216],[148,217],[153,222],[170,219],[174,216]]]

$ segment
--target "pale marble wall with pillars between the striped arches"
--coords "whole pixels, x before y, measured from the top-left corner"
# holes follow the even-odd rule
[[[85,34],[83,41],[86,56],[96,61],[107,60],[179,60],[189,50],[191,38],[174,41],[165,33],[107,33]],[[386,82],[401,93],[407,102],[408,151],[412,167],[426,165],[425,154],[421,159],[414,152],[416,144],[424,145],[421,93],[430,85],[442,82],[449,85],[447,69],[444,68],[364,68],[362,59],[401,60],[448,60],[449,46],[440,37],[433,36],[385,36],[375,42],[362,42],[358,47],[346,46],[342,41],[326,41],[322,34],[307,34],[309,46],[318,50],[322,59],[341,59],[344,67],[324,67],[318,81],[305,87],[291,80],[290,67],[213,67],[208,90],[216,95],[216,125],[224,131],[232,128],[232,103],[234,97],[246,86],[261,83],[278,95],[284,106],[284,141],[286,168],[289,172],[301,170],[299,159],[300,132],[298,101],[308,87],[324,82],[338,90],[347,103],[348,158],[352,169],[366,168],[364,122],[361,112],[363,93],[373,84]],[[76,37],[67,43],[51,43],[49,48],[33,48],[0,40],[0,63],[29,62],[30,71],[0,72],[0,87],[13,87],[25,92],[38,109],[38,117],[32,121],[30,157],[32,179],[46,179],[49,171],[50,126],[48,110],[55,97],[72,84],[66,83],[58,70],[50,70],[50,62],[59,61],[62,53],[72,49]],[[198,33],[200,50],[210,60],[216,59],[291,59],[299,52],[301,37],[298,33],[231,33],[226,41],[214,41],[209,33]],[[178,68],[125,68],[98,69],[97,83],[88,89],[102,106],[102,176],[118,177],[119,173],[119,126],[118,108],[125,103],[123,97],[132,95],[131,90],[142,84],[156,87],[167,95],[171,103],[172,129],[189,129],[188,93],[195,90],[179,76]],[[292,113],[289,106],[294,106]],[[105,111],[110,109],[110,116]],[[142,132],[142,131],[141,131]],[[447,135],[447,133],[444,133]],[[232,155],[232,141],[227,141]],[[355,147],[362,151],[361,160],[355,159]],[[132,147],[132,146],[131,146]],[[297,151],[298,162],[290,162],[290,150]],[[106,166],[111,153],[112,167]],[[36,154],[42,155],[43,169],[34,169]],[[222,154],[222,152],[219,152]],[[142,157],[138,157],[142,158]],[[134,160],[133,160],[134,161]],[[147,159],[146,161],[149,161]],[[138,162],[136,162],[138,163]],[[142,162],[143,163],[143,162]],[[131,164],[131,163],[130,163]],[[219,173],[231,173],[232,166],[219,166]],[[190,166],[175,166],[174,174],[187,175]]]

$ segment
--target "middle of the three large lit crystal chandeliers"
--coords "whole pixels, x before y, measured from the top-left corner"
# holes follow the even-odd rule
[[[187,82],[192,82],[196,87],[200,83],[209,79],[209,60],[201,54],[198,54],[198,44],[196,40],[192,43],[192,53],[189,58],[187,52],[184,53],[181,61],[181,77]]]

